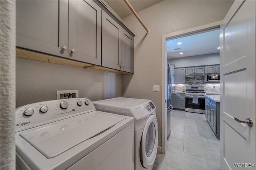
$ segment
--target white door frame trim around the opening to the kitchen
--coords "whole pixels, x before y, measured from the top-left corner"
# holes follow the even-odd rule
[[[166,150],[167,150],[167,146],[166,146],[166,143],[167,143],[167,115],[166,115],[166,113],[167,113],[167,108],[166,108],[167,107],[167,104],[166,104],[166,100],[167,100],[167,96],[166,96],[167,49],[166,49],[166,40],[180,38],[180,37],[184,37],[184,36],[190,36],[193,34],[198,34],[200,32],[205,32],[205,31],[212,30],[215,28],[220,28],[221,23],[222,23],[222,20],[213,22],[210,24],[190,28],[187,30],[182,30],[182,31],[178,31],[178,32],[165,34],[162,36],[162,132],[161,132],[161,134],[162,134],[161,146],[162,147],[158,148],[158,152],[162,152],[163,154],[165,154]]]

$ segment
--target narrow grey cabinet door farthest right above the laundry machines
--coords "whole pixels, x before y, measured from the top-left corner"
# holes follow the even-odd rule
[[[122,29],[122,69],[134,73],[134,38]]]

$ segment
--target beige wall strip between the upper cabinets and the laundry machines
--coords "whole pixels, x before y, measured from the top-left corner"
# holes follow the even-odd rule
[[[122,76],[16,58],[16,107],[57,99],[58,90],[78,90],[92,101],[121,97]]]

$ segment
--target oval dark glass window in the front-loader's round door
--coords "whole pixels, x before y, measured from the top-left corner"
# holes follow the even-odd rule
[[[154,144],[155,144],[155,138],[156,138],[156,128],[154,123],[150,123],[150,126],[148,127],[148,132],[146,136],[146,155],[150,157],[150,155],[153,152]]]

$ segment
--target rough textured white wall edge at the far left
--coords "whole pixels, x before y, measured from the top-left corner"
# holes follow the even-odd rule
[[[14,170],[16,1],[1,0],[0,5],[0,168],[1,170]]]

